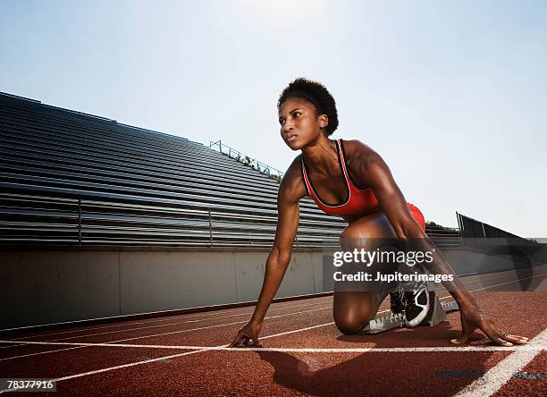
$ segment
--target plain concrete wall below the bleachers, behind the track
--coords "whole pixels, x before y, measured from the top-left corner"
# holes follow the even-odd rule
[[[533,273],[533,264],[514,258],[442,252],[459,275]],[[265,251],[3,251],[0,329],[257,300],[266,258]],[[323,292],[323,260],[321,251],[293,252],[276,297]]]

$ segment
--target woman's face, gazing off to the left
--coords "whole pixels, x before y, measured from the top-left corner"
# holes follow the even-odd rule
[[[299,98],[287,99],[279,110],[281,135],[287,146],[299,150],[322,133],[320,119],[326,116],[316,115],[316,106]]]

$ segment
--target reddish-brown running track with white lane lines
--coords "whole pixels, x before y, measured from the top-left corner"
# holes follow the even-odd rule
[[[458,312],[432,328],[344,336],[326,296],[274,303],[263,349],[225,347],[253,308],[25,332],[0,342],[0,377],[55,378],[60,396],[547,395],[546,275],[543,266],[519,281],[463,278],[503,331],[531,338],[526,346],[494,346],[480,332],[455,346]]]

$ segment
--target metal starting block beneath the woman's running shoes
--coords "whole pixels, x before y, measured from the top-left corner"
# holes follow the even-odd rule
[[[450,311],[458,310],[458,303],[455,300],[451,302],[441,302],[435,291],[429,291],[429,311],[422,325],[433,326],[445,320],[446,314]],[[364,335],[380,334],[389,331],[393,328],[402,328],[406,325],[406,317],[404,313],[392,313],[384,317],[374,318],[370,320],[365,329],[361,332]]]

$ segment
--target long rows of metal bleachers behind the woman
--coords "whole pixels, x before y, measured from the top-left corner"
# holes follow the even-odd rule
[[[0,138],[4,247],[272,245],[279,182],[200,143],[2,93]],[[303,199],[295,247],[345,226]]]

